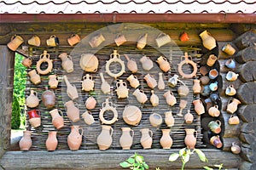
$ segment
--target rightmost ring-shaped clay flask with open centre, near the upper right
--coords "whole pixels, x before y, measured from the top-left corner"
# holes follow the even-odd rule
[[[183,59],[184,58],[184,59]],[[178,73],[183,77],[183,78],[192,78],[195,77],[196,72],[197,72],[197,65],[196,63],[192,60],[191,56],[188,56],[188,53],[185,53],[184,56],[181,57],[181,59],[183,59],[179,64],[177,64],[177,71]],[[183,65],[192,65],[193,67],[193,72],[191,74],[186,74],[183,72],[182,68]]]

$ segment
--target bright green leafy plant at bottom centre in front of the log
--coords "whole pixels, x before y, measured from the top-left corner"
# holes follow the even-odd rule
[[[148,164],[144,161],[144,157],[137,155],[137,153],[130,156],[127,160],[119,163],[119,165],[121,167],[129,167],[134,170],[144,170],[149,168]]]

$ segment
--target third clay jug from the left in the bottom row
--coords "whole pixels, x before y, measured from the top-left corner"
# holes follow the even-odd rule
[[[81,132],[79,132],[81,130]],[[84,129],[79,126],[71,126],[71,132],[67,136],[69,150],[79,150],[82,143]]]

